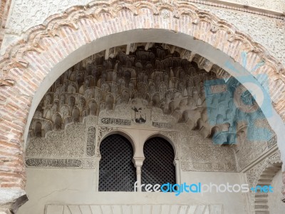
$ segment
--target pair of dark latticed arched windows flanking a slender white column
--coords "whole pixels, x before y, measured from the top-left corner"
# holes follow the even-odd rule
[[[175,154],[170,143],[164,138],[150,138],[143,152],[142,184],[174,184]],[[133,191],[136,170],[130,141],[118,134],[108,136],[100,143],[100,154],[99,191]]]

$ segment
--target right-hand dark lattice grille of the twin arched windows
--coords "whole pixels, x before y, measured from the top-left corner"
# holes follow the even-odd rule
[[[176,183],[173,164],[175,154],[168,141],[163,138],[150,138],[145,142],[143,153],[145,161],[142,165],[142,184]]]

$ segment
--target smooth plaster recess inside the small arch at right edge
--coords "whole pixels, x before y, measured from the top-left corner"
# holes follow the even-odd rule
[[[282,173],[279,170],[278,173],[274,176],[272,180],[272,184],[274,192],[269,194],[268,196],[268,205],[270,213],[284,213],[285,203],[281,201],[282,198]]]

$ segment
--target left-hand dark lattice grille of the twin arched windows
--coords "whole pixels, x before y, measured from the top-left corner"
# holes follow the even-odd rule
[[[133,146],[120,135],[100,143],[99,191],[133,191],[136,181]]]

